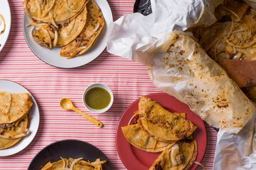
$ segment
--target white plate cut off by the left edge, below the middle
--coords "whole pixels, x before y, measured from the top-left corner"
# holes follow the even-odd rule
[[[20,84],[8,80],[0,80],[0,90],[5,90],[12,93],[28,92],[30,94],[30,92]],[[18,141],[18,143],[16,143],[14,146],[0,150],[0,156],[9,156],[12,154],[16,154],[17,152],[20,152],[21,150],[26,148],[35,137],[35,134],[38,131],[40,116],[38,104],[36,103],[32,95],[31,98],[33,101],[33,107],[31,109],[31,112],[29,113],[29,118],[31,118],[29,125],[29,135],[23,137],[23,139]]]

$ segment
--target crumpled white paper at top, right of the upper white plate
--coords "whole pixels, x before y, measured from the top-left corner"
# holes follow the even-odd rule
[[[152,14],[126,14],[113,22],[106,49],[112,54],[132,58],[136,50],[152,44],[165,33],[213,24],[216,21],[213,12],[223,1],[152,0]]]

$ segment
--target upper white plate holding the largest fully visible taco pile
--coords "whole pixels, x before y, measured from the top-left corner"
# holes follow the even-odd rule
[[[33,53],[38,56],[42,61],[48,63],[49,65],[53,65],[55,67],[61,68],[74,68],[85,65],[91,61],[93,61],[97,56],[99,56],[102,51],[106,48],[106,42],[109,37],[109,24],[113,21],[112,12],[109,7],[109,3],[106,0],[94,0],[98,6],[100,7],[102,14],[104,16],[105,25],[98,37],[94,46],[89,49],[85,54],[81,56],[77,56],[72,59],[67,59],[66,57],[62,57],[59,55],[61,48],[52,48],[51,50],[47,48],[43,48],[39,44],[33,41],[31,37],[31,29],[32,27],[26,27],[29,24],[29,20],[27,16],[24,14],[23,16],[23,31],[25,35],[25,39],[29,48],[33,51]]]

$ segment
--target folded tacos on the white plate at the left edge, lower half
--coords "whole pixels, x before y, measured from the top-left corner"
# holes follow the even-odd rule
[[[29,133],[29,112],[33,105],[28,93],[0,91],[0,150],[10,148]]]

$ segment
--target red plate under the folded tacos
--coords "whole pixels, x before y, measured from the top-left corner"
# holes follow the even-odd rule
[[[205,154],[205,149],[207,145],[207,135],[205,124],[203,120],[199,118],[196,114],[194,114],[188,107],[188,105],[178,101],[175,97],[167,95],[166,93],[154,93],[151,95],[147,95],[150,99],[154,99],[160,105],[168,109],[170,112],[185,112],[186,118],[191,120],[196,126],[197,130],[195,131],[194,135],[197,138],[197,158],[196,161],[201,163],[203,159],[203,155]],[[139,99],[134,101],[125,111],[122,118],[119,120],[119,124],[117,126],[117,134],[116,134],[116,143],[117,143],[117,152],[119,157],[121,158],[122,162],[129,170],[135,169],[149,169],[149,167],[154,163],[156,158],[160,155],[158,153],[150,153],[145,152],[143,150],[139,150],[134,146],[130,145],[126,138],[122,133],[122,126],[126,126],[130,119],[132,118],[134,111],[138,110]],[[196,169],[197,164],[194,164],[191,169]]]

